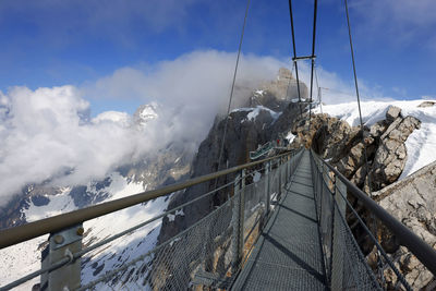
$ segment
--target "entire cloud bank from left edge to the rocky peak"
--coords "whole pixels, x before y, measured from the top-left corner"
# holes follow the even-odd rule
[[[29,183],[74,185],[101,179],[123,163],[178,141],[195,149],[227,108],[235,54],[199,51],[154,68],[123,68],[94,84],[0,93],[0,197]],[[234,106],[283,62],[244,56]],[[86,98],[156,102],[158,118],[140,129],[125,112],[89,118]]]

